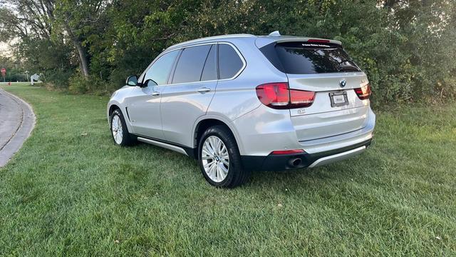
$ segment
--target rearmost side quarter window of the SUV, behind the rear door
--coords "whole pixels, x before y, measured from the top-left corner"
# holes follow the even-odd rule
[[[234,77],[244,66],[236,50],[228,44],[219,44],[219,76],[220,79]]]

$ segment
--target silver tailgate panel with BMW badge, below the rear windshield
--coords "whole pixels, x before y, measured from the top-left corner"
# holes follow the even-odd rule
[[[369,100],[358,98],[355,90],[367,83],[363,73],[288,74],[290,89],[315,91],[314,104],[303,109],[290,109],[291,121],[299,141],[336,136],[366,126]],[[346,81],[341,87],[341,81]],[[333,106],[331,93],[346,94],[347,104]]]

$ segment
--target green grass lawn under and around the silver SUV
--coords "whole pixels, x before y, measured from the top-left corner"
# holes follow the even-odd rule
[[[361,156],[226,190],[179,153],[115,146],[106,97],[2,88],[37,124],[0,168],[0,256],[456,255],[456,104],[376,111]]]

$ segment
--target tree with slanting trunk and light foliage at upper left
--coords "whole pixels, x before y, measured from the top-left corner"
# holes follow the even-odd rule
[[[6,0],[0,9],[2,32],[8,35],[3,41],[19,36],[21,44],[33,40],[66,44],[64,39],[69,39],[78,54],[81,74],[88,78],[90,56],[85,39],[98,32],[96,29],[107,2]]]

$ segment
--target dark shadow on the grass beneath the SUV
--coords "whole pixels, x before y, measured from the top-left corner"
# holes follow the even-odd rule
[[[169,180],[176,173],[184,172],[185,174],[180,175],[191,178],[192,181],[206,183],[199,170],[198,162],[193,158],[147,143],[138,143],[138,145],[128,149],[130,151],[134,150],[133,155],[135,158],[150,158],[150,161],[147,162],[151,166],[173,170],[172,173],[169,171],[163,173],[165,176],[160,179]],[[373,153],[366,152],[360,156],[317,168],[300,168],[287,171],[254,171],[249,181],[238,187],[237,190],[269,188],[269,190],[274,191],[282,188],[314,188],[323,184],[352,183],[354,179],[360,180],[361,178],[368,183],[368,175],[380,172],[381,166],[382,161],[380,158]],[[129,176],[133,175],[129,173]],[[138,174],[138,176],[134,176],[134,181],[143,181],[146,176],[147,172]],[[180,181],[179,183],[185,182]]]

